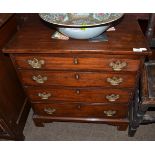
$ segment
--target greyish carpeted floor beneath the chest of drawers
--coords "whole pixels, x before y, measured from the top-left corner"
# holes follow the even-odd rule
[[[128,137],[127,131],[105,124],[54,122],[36,127],[31,111],[24,135],[26,141],[154,141],[155,124],[141,125],[134,137]]]

